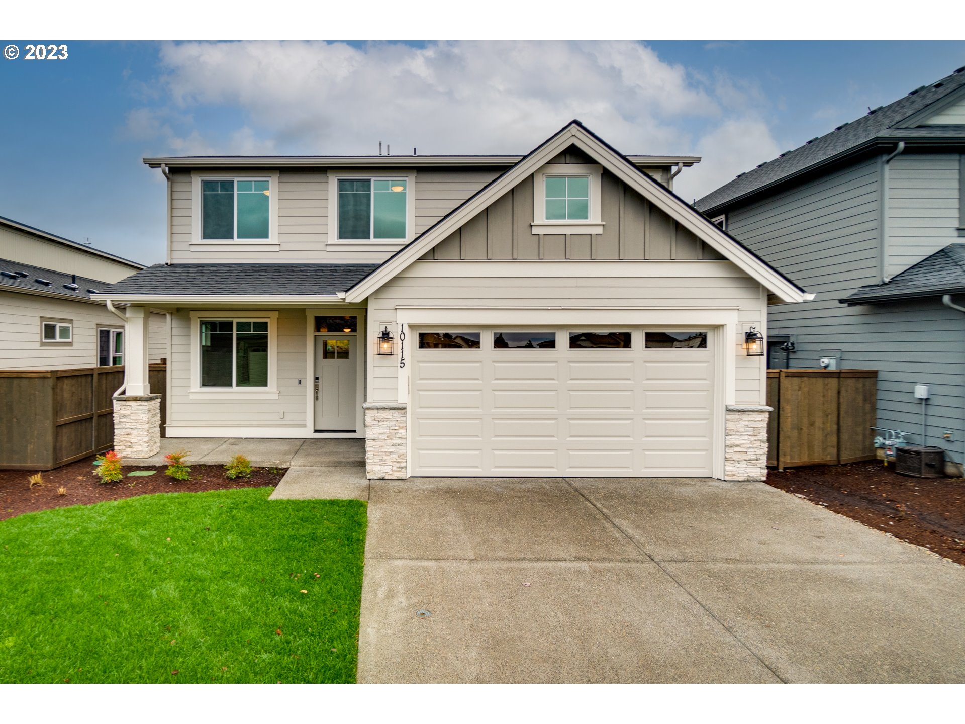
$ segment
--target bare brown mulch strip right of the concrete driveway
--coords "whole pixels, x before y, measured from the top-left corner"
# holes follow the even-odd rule
[[[963,478],[909,478],[872,460],[769,470],[767,485],[965,565]]]

